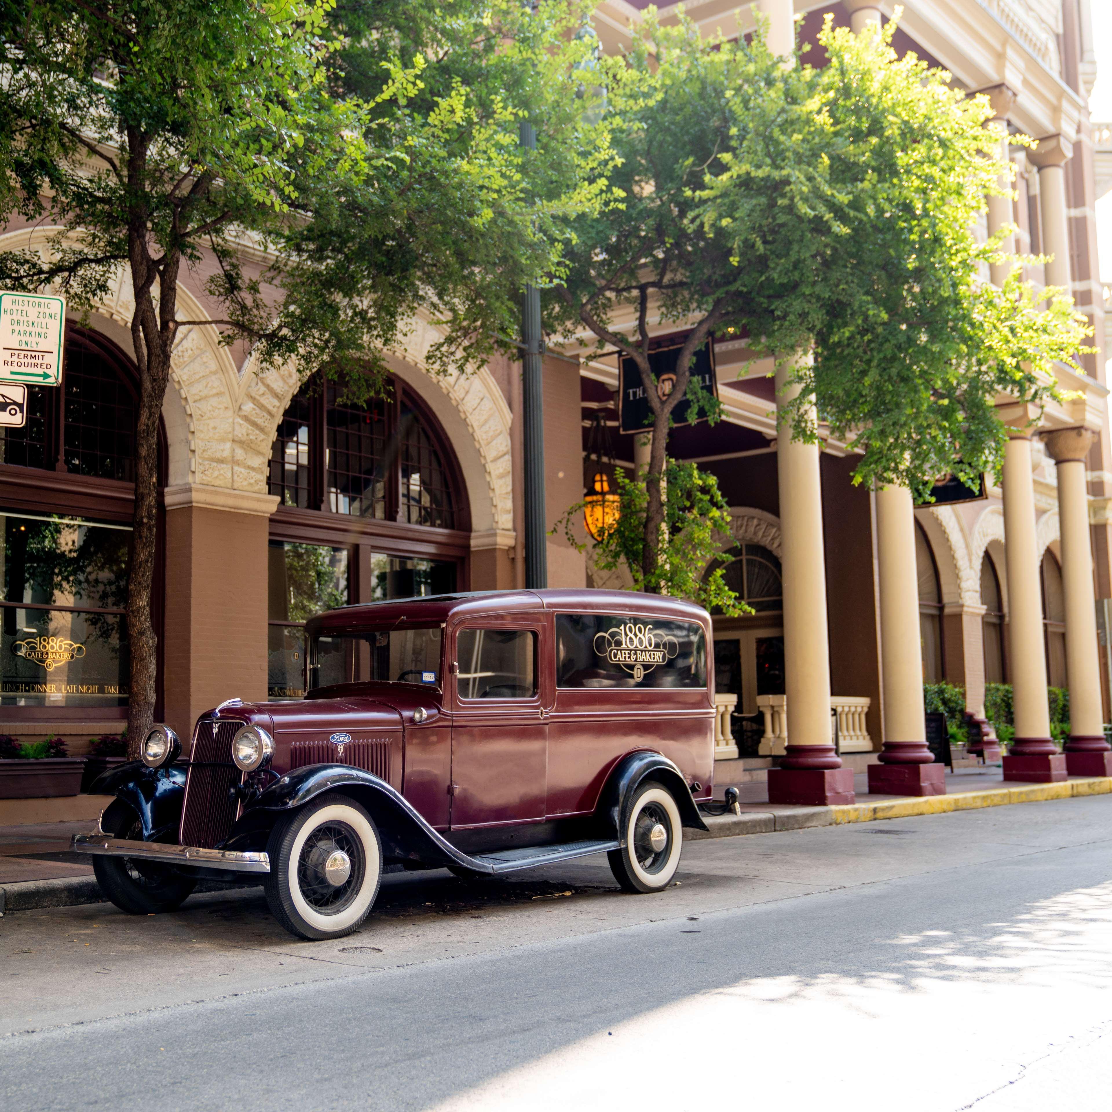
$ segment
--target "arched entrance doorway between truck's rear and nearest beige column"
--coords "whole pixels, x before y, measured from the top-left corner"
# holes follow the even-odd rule
[[[784,694],[783,587],[780,559],[762,545],[741,544],[707,569],[722,567],[726,585],[755,614],[715,617],[715,691],[737,696],[737,712],[757,713],[758,695]]]

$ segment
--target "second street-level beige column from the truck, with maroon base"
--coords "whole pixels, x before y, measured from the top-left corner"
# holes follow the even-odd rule
[[[926,747],[923,654],[915,564],[915,507],[906,487],[876,492],[876,557],[881,596],[884,748],[868,766],[868,791],[944,795],[945,765]]]

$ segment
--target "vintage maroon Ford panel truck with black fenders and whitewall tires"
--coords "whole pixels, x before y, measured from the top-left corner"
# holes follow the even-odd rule
[[[306,628],[306,697],[222,703],[188,758],[156,726],[73,838],[137,914],[201,877],[261,874],[276,919],[356,930],[384,868],[502,874],[606,851],[659,892],[705,830],[711,619],[609,590],[489,592],[346,606]],[[246,876],[245,876],[246,874]]]

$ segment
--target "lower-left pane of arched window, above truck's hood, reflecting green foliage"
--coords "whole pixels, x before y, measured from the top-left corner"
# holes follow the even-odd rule
[[[348,600],[348,549],[271,540],[267,695],[305,695],[305,622]]]

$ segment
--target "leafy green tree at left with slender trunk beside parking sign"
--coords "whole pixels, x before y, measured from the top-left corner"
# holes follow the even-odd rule
[[[325,368],[361,400],[385,388],[381,351],[418,307],[445,329],[434,367],[503,342],[513,286],[559,271],[556,221],[599,188],[580,168],[605,143],[567,130],[586,49],[573,10],[449,2],[438,24],[428,2],[332,8],[0,3],[0,220],[62,227],[43,252],[0,255],[0,285],[88,310],[130,270],[135,753],[153,713],[157,428],[181,326],[247,340],[264,365]],[[529,159],[517,120],[534,111],[549,146]],[[202,264],[219,319],[181,320],[179,282]]]

